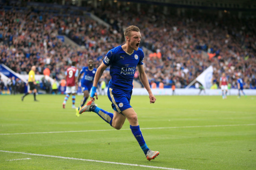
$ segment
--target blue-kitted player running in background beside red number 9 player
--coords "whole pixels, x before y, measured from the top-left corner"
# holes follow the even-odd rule
[[[81,87],[83,91],[83,98],[81,100],[80,107],[83,107],[86,100],[89,98],[89,91],[91,90],[91,87],[93,86],[93,79],[95,76],[95,73],[97,71],[96,68],[94,68],[93,59],[89,59],[87,61],[88,67],[83,67],[78,75],[77,81],[80,79],[80,77],[83,74],[83,77],[81,79]],[[76,109],[76,116],[80,116],[78,109]]]

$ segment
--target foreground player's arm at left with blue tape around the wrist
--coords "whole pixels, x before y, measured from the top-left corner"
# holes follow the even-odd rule
[[[100,80],[100,77],[102,76],[102,73],[104,72],[104,70],[107,68],[108,66],[106,66],[103,62],[100,64],[100,66],[97,68],[97,71],[95,73],[95,77],[93,80],[93,87],[91,89],[91,101],[95,101],[94,96],[96,97],[96,99],[98,100],[98,94],[96,92],[97,89],[97,85],[98,82]]]

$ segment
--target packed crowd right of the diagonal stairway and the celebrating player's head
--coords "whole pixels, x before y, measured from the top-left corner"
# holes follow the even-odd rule
[[[141,44],[161,54],[145,60],[150,80],[163,80],[165,84],[174,81],[176,87],[186,87],[213,65],[213,83],[219,85],[219,78],[225,72],[233,87],[236,74],[242,75],[246,88],[255,87],[255,18],[219,18],[202,13],[164,15],[162,11],[152,11],[142,5],[140,12],[127,6],[104,6],[95,11],[119,32],[130,24],[139,26],[143,37]]]

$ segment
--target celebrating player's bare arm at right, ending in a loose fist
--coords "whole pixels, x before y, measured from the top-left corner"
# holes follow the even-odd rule
[[[138,70],[139,70],[139,79],[141,80],[141,83],[143,84],[145,89],[148,91],[150,103],[155,103],[156,98],[150,89],[150,85],[148,83],[148,77],[147,77],[147,74],[145,73],[143,65],[138,65]]]

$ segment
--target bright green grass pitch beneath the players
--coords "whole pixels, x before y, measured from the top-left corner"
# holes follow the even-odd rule
[[[140,164],[186,170],[254,170],[256,167],[256,96],[132,96],[148,147],[160,156],[147,161],[132,135],[128,121],[115,130],[96,113],[75,116],[71,98],[64,95],[0,96],[0,150]],[[82,96],[76,96],[76,105]],[[96,104],[111,111],[107,96]],[[217,126],[218,125],[218,126]],[[228,126],[234,125],[234,126]],[[160,128],[163,127],[163,128]],[[146,129],[152,128],[152,129]],[[93,130],[93,131],[90,131]],[[106,131],[95,131],[106,130]],[[38,133],[16,134],[11,133]],[[83,132],[66,132],[83,131]],[[3,134],[10,135],[3,135]],[[7,161],[30,158],[26,160]],[[105,169],[156,168],[70,160],[0,152],[0,169]]]

